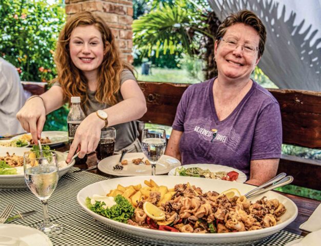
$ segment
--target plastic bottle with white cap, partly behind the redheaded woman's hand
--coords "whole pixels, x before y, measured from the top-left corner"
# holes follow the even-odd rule
[[[68,125],[68,139],[69,139],[69,148],[72,144],[72,141],[75,137],[76,130],[81,122],[86,118],[84,111],[81,107],[81,98],[80,96],[71,97],[71,107],[69,114],[67,116],[67,125]],[[76,157],[76,163],[86,163],[87,155],[84,158],[80,159]]]

